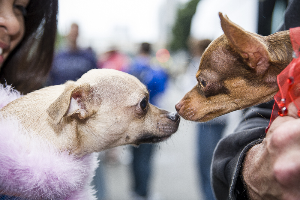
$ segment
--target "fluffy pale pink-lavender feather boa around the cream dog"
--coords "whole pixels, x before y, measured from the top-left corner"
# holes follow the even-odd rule
[[[0,109],[18,97],[19,92],[0,84]],[[30,200],[94,200],[91,181],[97,157],[97,153],[76,158],[60,152],[33,137],[16,119],[2,119],[0,112],[0,193],[18,193]]]

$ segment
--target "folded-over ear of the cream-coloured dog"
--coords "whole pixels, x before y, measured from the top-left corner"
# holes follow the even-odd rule
[[[76,115],[80,119],[87,118],[90,111],[86,103],[91,99],[91,86],[67,84],[63,93],[49,106],[46,113],[57,125],[64,116]]]

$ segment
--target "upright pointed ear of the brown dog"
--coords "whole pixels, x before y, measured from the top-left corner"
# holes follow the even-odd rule
[[[219,16],[221,27],[229,42],[238,50],[249,67],[256,73],[264,74],[270,66],[270,56],[265,44],[230,21],[226,15],[224,17],[222,13],[219,13]]]

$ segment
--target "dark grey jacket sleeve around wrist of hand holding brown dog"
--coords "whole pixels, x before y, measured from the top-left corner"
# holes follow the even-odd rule
[[[216,199],[247,199],[240,169],[245,153],[265,137],[273,103],[271,101],[247,109],[244,120],[235,132],[218,142],[211,165],[211,181]]]

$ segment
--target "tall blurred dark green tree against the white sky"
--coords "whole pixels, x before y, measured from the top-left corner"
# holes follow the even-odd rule
[[[173,39],[170,50],[187,49],[187,38],[190,35],[190,23],[200,0],[191,0],[177,11],[177,19],[172,29]]]

